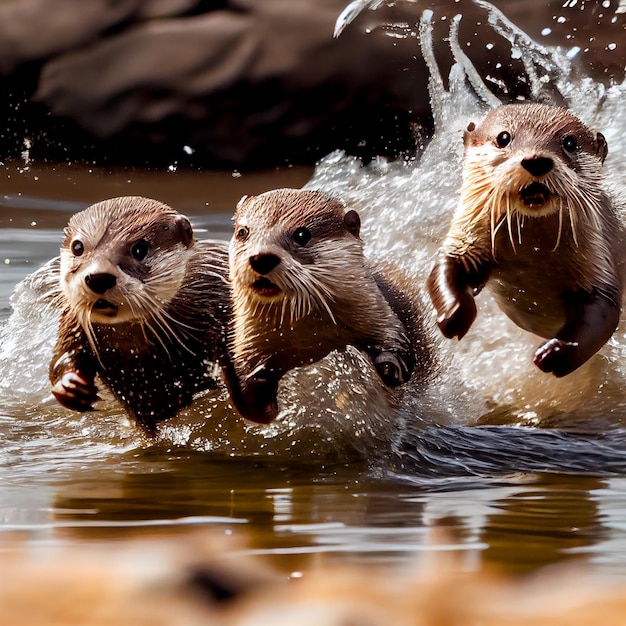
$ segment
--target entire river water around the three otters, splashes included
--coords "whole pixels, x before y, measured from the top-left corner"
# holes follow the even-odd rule
[[[513,32],[497,21],[493,28]],[[426,20],[427,56],[428,33]],[[558,74],[574,112],[605,133],[607,169],[620,184],[625,172],[611,155],[626,148],[623,87],[574,81],[566,56],[524,46]],[[170,203],[200,236],[228,238],[244,193],[332,190],[361,212],[368,253],[423,282],[456,202],[462,129],[491,106],[480,85],[468,87],[467,63],[444,88],[430,60],[436,135],[412,163],[364,168],[336,154],[315,172],[242,175],[3,166],[0,531],[46,544],[202,527],[247,537],[252,552],[286,570],[319,554],[395,565],[455,549],[468,569],[580,560],[626,575],[624,328],[557,381],[530,363],[537,339],[485,293],[467,338],[440,341],[442,372],[423,393],[386,397],[356,353],[331,356],[286,382],[276,424],[243,423],[218,391],[152,441],[110,399],[81,415],[56,405],[47,382],[54,313],[24,283],[10,307],[18,282],[57,254],[73,212],[128,194]],[[432,544],[434,527],[446,530],[446,543]]]

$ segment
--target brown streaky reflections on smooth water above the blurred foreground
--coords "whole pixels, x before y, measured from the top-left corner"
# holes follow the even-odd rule
[[[611,529],[597,498],[608,487],[593,477],[519,474],[437,489],[374,478],[365,465],[295,467],[151,449],[65,476],[49,490],[48,522],[55,536],[82,540],[198,525],[248,537],[253,529],[249,550],[284,571],[320,553],[329,561],[397,565],[454,549],[467,569],[525,572],[611,555]],[[41,532],[32,521],[26,527]],[[433,528],[445,531],[445,544],[433,545]]]

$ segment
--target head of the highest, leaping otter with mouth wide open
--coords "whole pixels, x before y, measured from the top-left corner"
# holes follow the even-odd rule
[[[465,195],[488,206],[492,220],[593,210],[606,140],[567,110],[504,105],[471,123],[464,144]]]

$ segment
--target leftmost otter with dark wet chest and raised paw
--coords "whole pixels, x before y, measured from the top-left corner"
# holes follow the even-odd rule
[[[227,360],[231,315],[227,242],[194,241],[189,220],[156,200],[113,198],[70,218],[59,277],[50,380],[62,405],[92,409],[98,375],[153,433],[216,387],[210,366]]]

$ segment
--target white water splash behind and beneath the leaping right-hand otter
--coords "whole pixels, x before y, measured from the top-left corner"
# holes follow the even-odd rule
[[[380,0],[353,2],[340,16],[336,32],[340,33],[360,11],[381,4]],[[575,115],[605,135],[609,145],[607,185],[614,196],[624,198],[626,84],[606,87],[578,76],[572,68],[575,50],[541,46],[489,3],[477,0],[475,4],[487,11],[494,33],[509,43],[511,57],[523,60],[532,95],[546,87],[556,88]],[[502,104],[463,52],[461,19],[457,15],[450,24],[449,46],[455,63],[447,89],[434,52],[433,12],[424,11],[420,20],[416,47],[421,46],[430,72],[435,132],[419,158],[408,165],[379,162],[360,168],[354,159],[333,154],[320,163],[308,184],[334,193],[356,208],[363,218],[363,238],[369,253],[393,260],[421,285],[458,201],[462,132],[469,122],[479,122],[490,108]],[[445,412],[447,406],[448,414],[456,414],[466,423],[572,427],[582,420],[587,427],[595,423],[599,429],[607,422],[621,423],[626,406],[622,392],[626,374],[624,323],[600,355],[564,379],[555,379],[532,364],[539,338],[510,322],[488,290],[480,294],[477,304],[478,318],[463,341],[442,340],[448,373],[438,383],[440,397],[435,403],[439,410]]]

